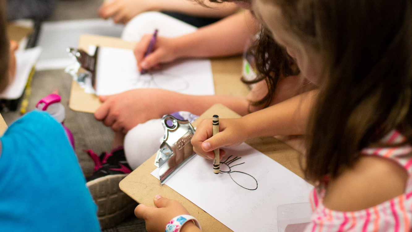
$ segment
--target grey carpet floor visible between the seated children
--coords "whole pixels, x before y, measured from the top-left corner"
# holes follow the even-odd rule
[[[97,8],[103,0],[61,0],[50,20],[91,19],[97,17]],[[54,88],[59,88],[62,103],[66,107],[65,125],[72,131],[75,138],[75,152],[85,175],[93,171],[93,161],[83,149],[93,149],[95,152],[109,151],[113,139],[110,128],[96,121],[93,114],[73,111],[68,107],[72,78],[63,70],[37,71],[33,76],[31,97],[28,109],[34,109],[42,97],[50,94]],[[20,117],[18,112],[1,112],[7,125]],[[104,232],[146,232],[143,220],[131,215],[123,223],[104,230]]]

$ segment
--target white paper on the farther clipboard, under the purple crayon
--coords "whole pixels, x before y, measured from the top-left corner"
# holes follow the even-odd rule
[[[112,95],[137,88],[161,88],[191,95],[215,94],[208,59],[190,59],[171,64],[161,71],[140,75],[132,50],[100,47],[97,64],[97,95]]]

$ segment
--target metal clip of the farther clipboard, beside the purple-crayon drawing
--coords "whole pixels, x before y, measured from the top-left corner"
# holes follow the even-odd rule
[[[69,56],[75,57],[76,63],[66,68],[66,73],[73,76],[73,79],[79,83],[80,86],[86,85],[86,78],[91,78],[91,86],[96,91],[96,67],[99,46],[96,46],[94,55],[89,55],[82,49],[69,47],[67,49]],[[82,68],[82,69],[80,69]]]

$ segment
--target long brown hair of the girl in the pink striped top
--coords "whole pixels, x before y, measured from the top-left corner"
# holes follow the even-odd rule
[[[411,0],[261,0],[321,54],[305,175],[337,177],[393,129],[412,142]],[[382,145],[382,144],[381,144]]]

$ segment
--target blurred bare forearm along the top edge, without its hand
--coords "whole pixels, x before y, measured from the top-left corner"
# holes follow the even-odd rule
[[[152,10],[179,12],[197,17],[223,18],[236,13],[239,9],[236,4],[231,2],[217,3],[206,0],[204,3],[208,7],[204,7],[195,1],[155,0]]]

